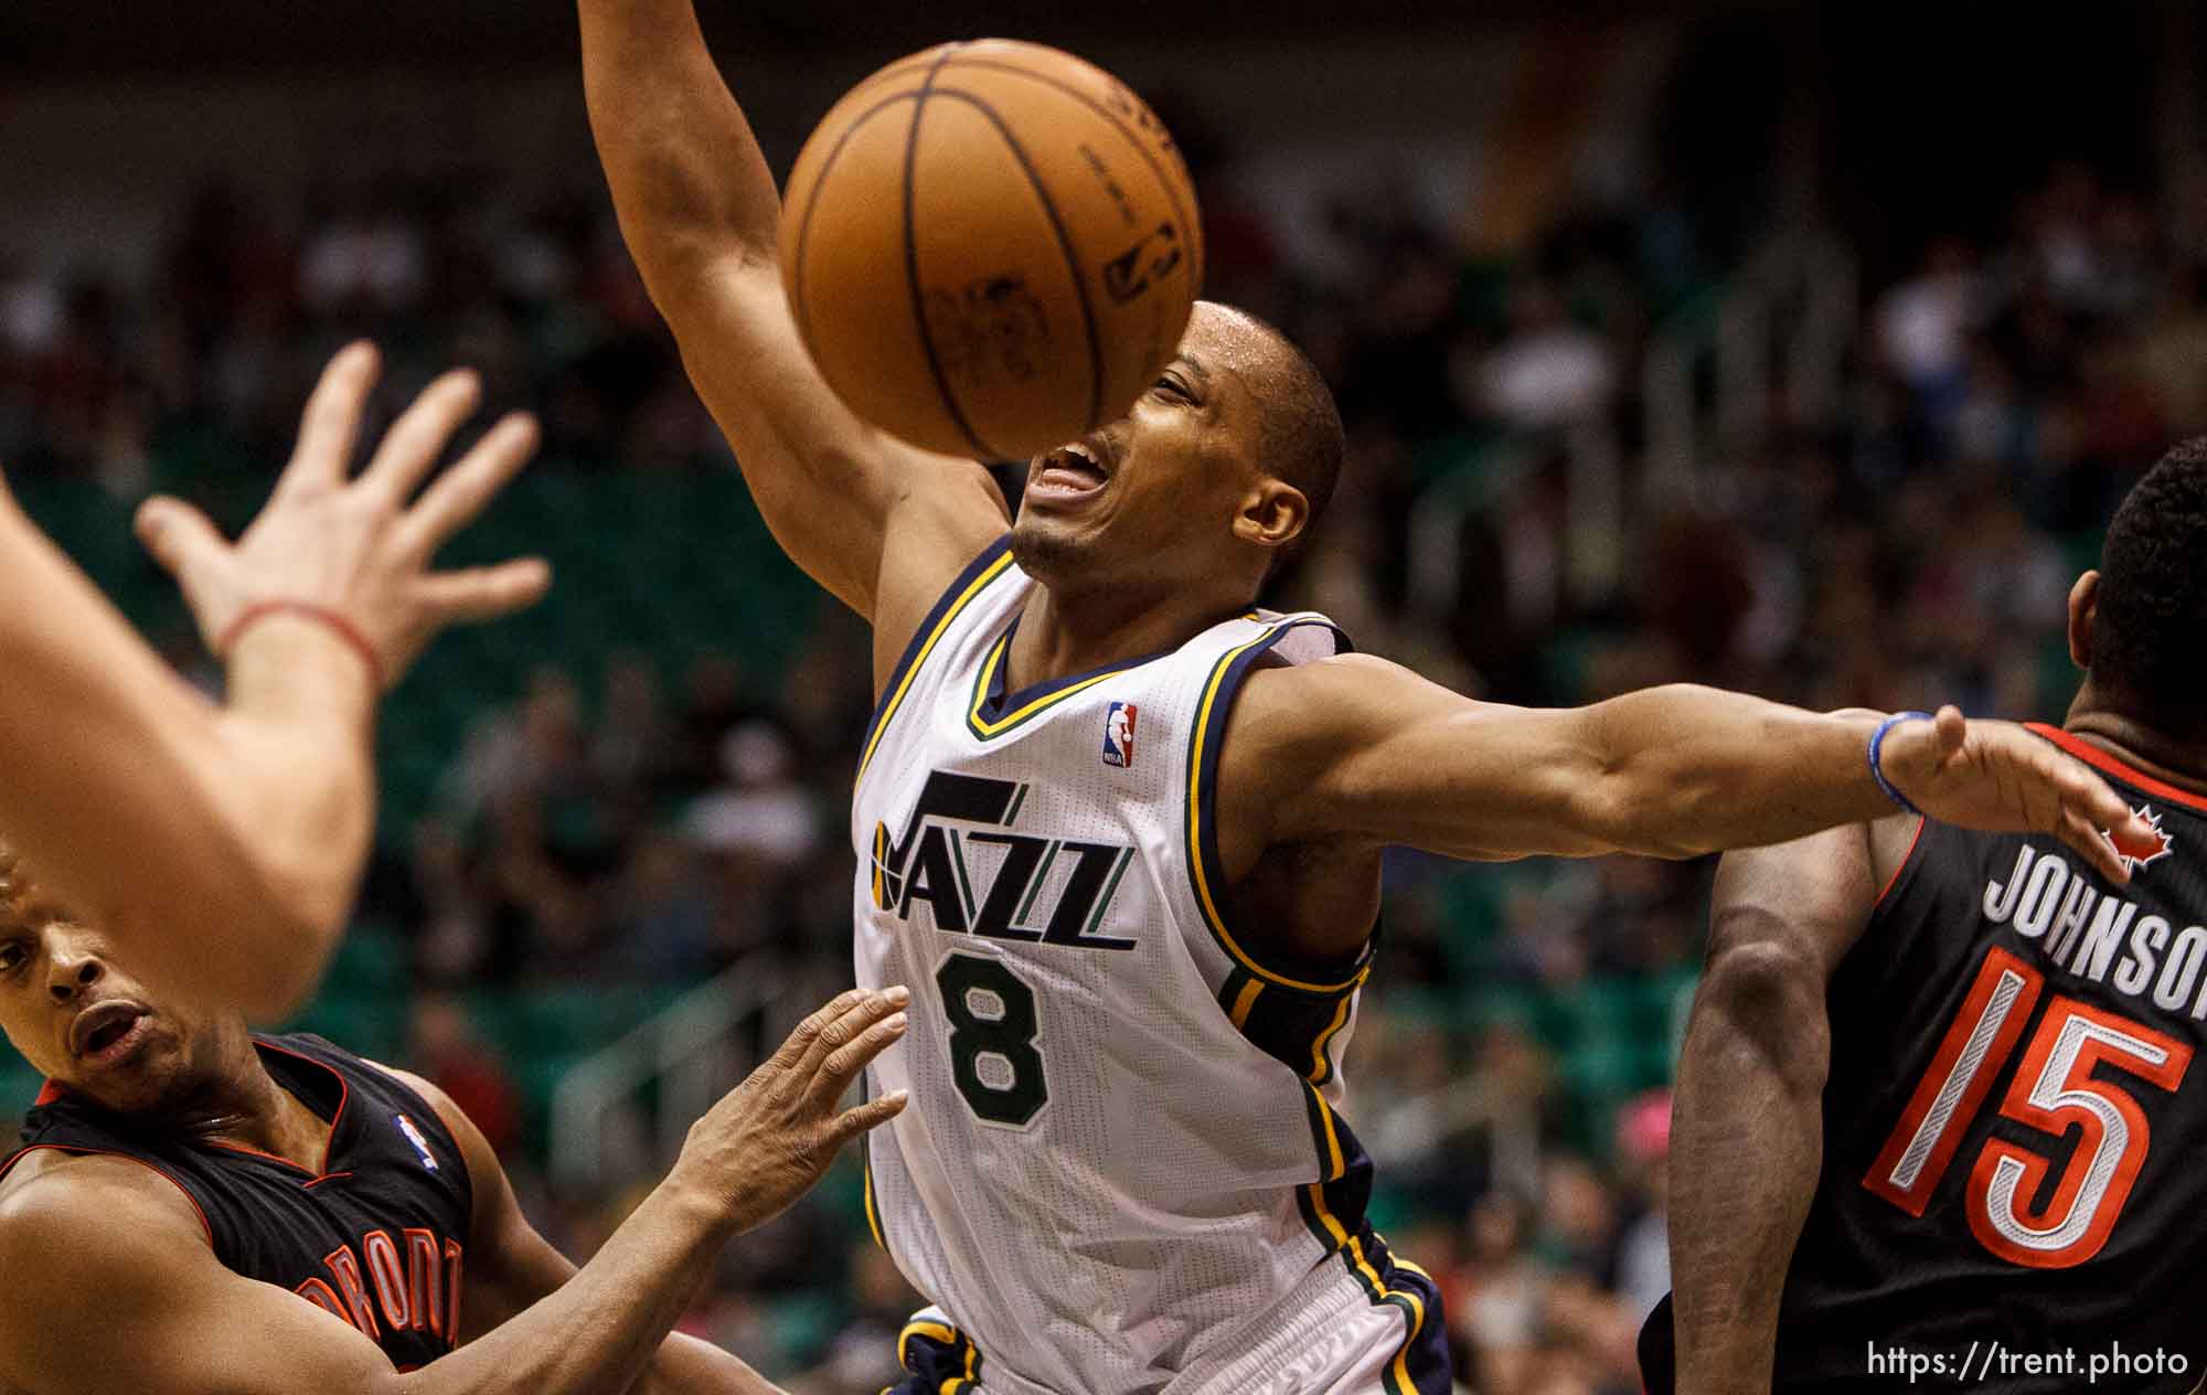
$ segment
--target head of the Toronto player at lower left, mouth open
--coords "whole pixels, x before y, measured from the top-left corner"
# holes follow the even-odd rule
[[[49,1079],[124,1115],[172,1112],[252,1055],[243,1018],[157,1002],[4,845],[0,1031]]]

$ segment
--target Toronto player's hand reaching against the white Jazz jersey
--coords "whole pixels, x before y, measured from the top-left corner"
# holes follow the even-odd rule
[[[909,998],[903,987],[852,989],[799,1022],[781,1051],[691,1126],[675,1174],[719,1199],[737,1229],[779,1216],[843,1143],[905,1108],[903,1090],[836,1106],[859,1071],[905,1035]]]

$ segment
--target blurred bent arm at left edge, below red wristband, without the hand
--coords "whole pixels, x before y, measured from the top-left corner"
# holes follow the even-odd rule
[[[0,534],[0,837],[157,982],[258,1018],[294,1009],[366,848],[360,660],[269,620],[218,709],[4,499]]]

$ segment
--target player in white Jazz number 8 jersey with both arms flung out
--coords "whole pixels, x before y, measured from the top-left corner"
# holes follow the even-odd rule
[[[1708,689],[1485,706],[1251,609],[1342,428],[1269,327],[1198,305],[1104,430],[987,470],[863,426],[799,344],[777,192],[691,0],[580,0],[622,232],[775,536],[874,625],[856,967],[911,989],[870,1216],[938,1307],[905,1391],[1448,1388],[1430,1280],[1364,1225],[1340,1053],[1379,854],[1770,843],[1891,808],[1874,720]],[[2019,728],[1887,726],[1942,819],[2136,834]]]

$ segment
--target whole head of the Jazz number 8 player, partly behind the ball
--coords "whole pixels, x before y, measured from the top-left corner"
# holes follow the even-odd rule
[[[1256,316],[1198,300],[1134,411],[1028,464],[1011,550],[1044,585],[1196,587],[1243,605],[1333,499],[1342,452],[1311,360]]]

